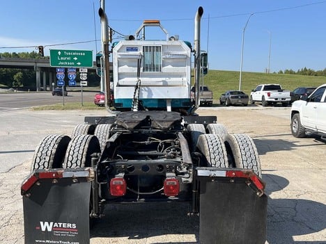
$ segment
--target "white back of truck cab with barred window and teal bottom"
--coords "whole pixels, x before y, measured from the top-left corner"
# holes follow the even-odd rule
[[[148,110],[176,111],[192,106],[189,43],[123,40],[113,48],[113,59],[116,109],[132,108],[134,99]]]

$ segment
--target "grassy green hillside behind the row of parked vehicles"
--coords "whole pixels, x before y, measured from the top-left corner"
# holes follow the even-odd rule
[[[239,76],[240,72],[235,71],[208,70],[208,74],[203,77],[203,83],[213,91],[214,99],[219,99],[226,90],[239,89]],[[262,83],[278,83],[285,90],[293,90],[299,86],[320,86],[326,83],[326,77],[242,72],[241,90],[248,95]]]

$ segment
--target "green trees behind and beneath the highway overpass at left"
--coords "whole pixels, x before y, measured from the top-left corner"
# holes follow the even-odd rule
[[[0,53],[0,58],[33,58],[49,59],[49,56],[41,57],[38,52]],[[77,72],[78,75],[78,72]],[[95,72],[87,74],[88,86],[100,86],[100,77]],[[21,88],[36,90],[36,71],[30,69],[0,69],[0,84],[8,88]]]

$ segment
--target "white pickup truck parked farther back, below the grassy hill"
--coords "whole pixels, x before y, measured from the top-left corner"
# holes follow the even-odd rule
[[[250,93],[250,103],[261,102],[262,106],[281,103],[286,107],[290,100],[290,90],[283,90],[279,84],[261,84]]]

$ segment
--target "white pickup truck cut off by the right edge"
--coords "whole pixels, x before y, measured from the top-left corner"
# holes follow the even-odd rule
[[[310,132],[326,140],[326,84],[316,88],[309,97],[293,102],[291,131],[297,138],[304,138]]]

